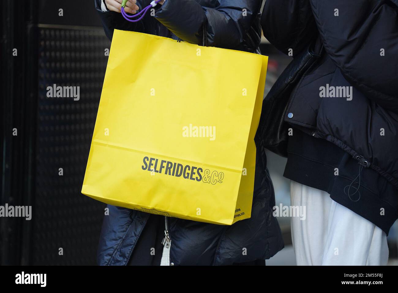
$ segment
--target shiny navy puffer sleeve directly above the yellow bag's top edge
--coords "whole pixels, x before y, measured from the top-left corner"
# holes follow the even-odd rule
[[[261,0],[219,0],[217,8],[201,6],[195,0],[166,0],[155,18],[189,43],[234,49],[238,47],[261,8]]]

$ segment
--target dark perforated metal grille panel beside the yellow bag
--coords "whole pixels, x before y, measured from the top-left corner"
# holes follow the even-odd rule
[[[81,28],[39,28],[34,265],[96,264],[105,205],[80,191],[110,42],[101,28]],[[48,97],[54,84],[80,87],[79,100]]]

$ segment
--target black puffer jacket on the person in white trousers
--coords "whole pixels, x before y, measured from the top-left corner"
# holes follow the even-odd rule
[[[267,0],[261,17],[265,37],[279,50],[292,49],[295,58],[312,43],[320,54],[291,92],[283,119],[349,153],[365,175],[375,172],[359,181],[361,192],[373,194],[361,199],[367,205],[347,199],[341,204],[386,233],[398,217],[397,14],[398,0]],[[341,87],[352,87],[351,96],[322,95],[323,89],[330,94]]]

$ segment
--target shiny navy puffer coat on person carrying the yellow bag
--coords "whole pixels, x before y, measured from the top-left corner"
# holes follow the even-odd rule
[[[137,0],[140,8],[149,3],[150,0]],[[258,0],[166,0],[163,6],[156,6],[154,17],[148,12],[142,21],[135,24],[124,20],[119,13],[101,12],[99,4],[96,2],[96,8],[110,39],[116,28],[181,38],[202,45],[203,31],[206,31],[209,46],[258,51],[261,32],[261,1]],[[260,159],[260,152],[263,149],[259,149],[257,155],[251,218],[232,226],[168,218],[172,241],[170,263],[230,265],[268,259],[283,248],[281,230],[272,215],[275,205],[273,186],[265,157]],[[98,264],[126,265],[149,217],[153,215],[108,207],[109,216],[104,217],[98,246]]]

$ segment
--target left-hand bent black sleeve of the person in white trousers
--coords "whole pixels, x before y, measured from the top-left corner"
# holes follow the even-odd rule
[[[264,36],[278,50],[287,54],[293,49],[293,57],[318,35],[309,0],[267,0],[261,27]]]

